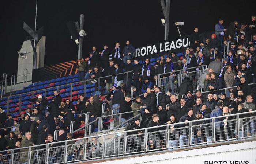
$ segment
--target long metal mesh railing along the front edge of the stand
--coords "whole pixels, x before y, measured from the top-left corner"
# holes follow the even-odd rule
[[[242,136],[241,127],[246,124],[250,132],[256,116],[243,117],[245,112],[213,118],[204,118],[170,125],[128,130],[89,136],[74,140],[34,145],[0,151],[0,158],[9,163],[69,163],[104,158],[116,158],[152,151],[167,152],[170,149],[193,148],[198,145],[214,145],[216,142],[233,143],[233,140],[256,138],[255,133]],[[204,122],[204,123],[203,123]],[[71,142],[75,143],[71,143]],[[225,144],[225,143],[224,143]],[[19,150],[20,152],[16,152]],[[15,151],[15,152],[14,152]]]

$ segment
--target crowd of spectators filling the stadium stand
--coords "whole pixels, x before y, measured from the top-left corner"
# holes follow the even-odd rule
[[[102,51],[93,47],[89,57],[81,59],[78,63],[79,80],[90,79],[89,83],[98,83],[99,77],[109,75],[110,77],[100,81],[100,91],[96,91],[89,99],[80,95],[76,108],[71,100],[62,101],[58,91],[54,91],[50,103],[39,95],[30,99],[36,105],[33,109],[27,109],[26,114],[22,114],[18,121],[14,121],[11,114],[6,115],[3,108],[0,108],[0,125],[4,128],[0,130],[0,151],[56,142],[53,140],[55,130],[59,130],[58,141],[70,140],[71,121],[75,121],[74,130],[78,129],[85,123],[84,116],[79,114],[87,112],[90,112],[89,122],[101,116],[102,112],[105,116],[111,114],[112,109],[115,109],[114,113],[133,111],[123,114],[121,122],[141,114],[141,118],[135,118],[134,124],[127,124],[126,130],[131,130],[224,115],[227,115],[226,119],[229,120],[233,119],[229,114],[255,110],[255,86],[248,85],[256,82],[255,19],[256,17],[252,16],[252,22],[249,24],[239,25],[237,21],[231,22],[227,29],[223,26],[223,19],[219,19],[215,25],[215,33],[211,38],[207,38],[206,42],[200,40],[199,29],[195,28],[189,38],[190,47],[185,50],[184,56],[178,58],[175,53],[162,55],[154,66],[150,64],[149,58],[144,60],[144,64],[140,64],[138,58],[132,59],[135,48],[129,41],[123,49],[119,43],[116,43],[112,50],[107,45],[104,45]],[[250,35],[252,40],[249,40]],[[230,47],[225,57],[223,50],[229,41]],[[202,65],[207,65],[208,68],[202,71],[197,84],[203,91],[210,91],[206,94],[196,90],[193,95],[193,87],[188,77],[185,77],[179,86],[178,97],[169,91],[162,93],[164,86],[157,86],[155,83],[158,74],[166,73],[164,76],[172,76],[175,70],[186,71],[188,68],[198,67],[186,71],[190,72],[198,70]],[[131,71],[128,79],[120,74],[127,71]],[[97,86],[95,85],[96,89]],[[108,93],[102,99],[105,86]],[[130,96],[131,86],[134,86],[133,101]],[[225,90],[215,91],[225,87],[232,88],[226,93]],[[139,96],[140,94],[143,95]],[[182,97],[183,94],[186,97]],[[105,111],[101,111],[103,102],[107,103]],[[108,120],[109,118],[105,118],[105,121]],[[97,122],[92,124],[91,132],[94,132],[96,124]],[[14,127],[8,128],[11,126]],[[172,128],[183,126],[188,124]],[[255,122],[252,126],[255,127]],[[253,134],[255,128],[251,128],[250,135]],[[180,132],[179,137],[171,138],[171,143],[182,147],[186,135],[187,133]],[[205,140],[210,140],[209,137]]]

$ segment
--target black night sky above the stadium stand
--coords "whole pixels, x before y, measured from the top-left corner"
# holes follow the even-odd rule
[[[23,21],[34,28],[35,0],[1,0],[0,4],[0,74],[17,74],[18,54],[25,38]],[[169,39],[176,38],[174,22],[185,22],[181,31],[191,34],[213,31],[222,17],[228,26],[231,21],[247,22],[255,13],[253,0],[236,4],[231,0],[171,0]],[[245,4],[248,4],[247,6]],[[242,11],[242,7],[244,10]],[[236,12],[237,10],[237,12]],[[77,59],[78,46],[70,39],[65,22],[79,21],[84,14],[83,57],[92,46],[102,51],[103,44],[110,49],[119,42],[121,47],[130,40],[135,47],[162,41],[164,26],[159,0],[38,0],[37,29],[44,26],[46,36],[45,66]]]

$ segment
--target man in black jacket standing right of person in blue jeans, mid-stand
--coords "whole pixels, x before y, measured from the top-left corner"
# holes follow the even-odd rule
[[[126,95],[125,98],[121,100],[119,113],[131,112],[131,105],[131,97],[129,95]],[[121,122],[123,123],[131,117],[133,117],[133,113],[122,114]],[[122,126],[124,127],[125,124],[123,124]]]

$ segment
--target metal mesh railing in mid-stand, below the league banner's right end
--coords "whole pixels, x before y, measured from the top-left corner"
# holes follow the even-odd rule
[[[199,69],[200,68],[200,69]],[[178,71],[162,73],[157,75],[157,85],[163,87],[163,92],[170,91],[171,94],[178,93],[178,87],[181,85],[184,77],[188,77],[189,81],[193,85],[193,89],[197,88],[197,80],[202,74],[202,71],[207,68],[207,65],[199,67],[191,67],[188,69],[182,69]],[[195,70],[196,69],[196,70]],[[192,71],[189,71],[192,70]],[[195,71],[193,71],[195,70]],[[188,72],[189,71],[189,72]],[[172,75],[170,75],[172,73]],[[167,75],[167,76],[165,76]]]

